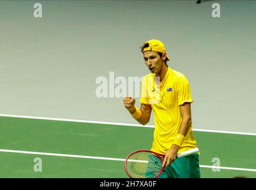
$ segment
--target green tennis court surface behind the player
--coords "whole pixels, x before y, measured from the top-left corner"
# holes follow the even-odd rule
[[[128,178],[125,157],[151,147],[153,128],[0,117],[0,178]],[[202,178],[256,178],[255,135],[194,131]],[[42,171],[34,166],[42,161]],[[216,161],[220,161],[219,167]]]

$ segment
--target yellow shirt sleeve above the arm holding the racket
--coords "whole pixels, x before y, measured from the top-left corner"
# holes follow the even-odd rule
[[[185,102],[193,102],[190,85],[185,76],[179,79],[177,88],[179,106],[184,105]]]

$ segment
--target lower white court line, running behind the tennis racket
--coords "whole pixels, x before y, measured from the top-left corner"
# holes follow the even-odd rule
[[[21,150],[0,149],[0,152],[21,153],[21,154],[36,154],[36,155],[45,155],[45,156],[74,157],[74,158],[81,158],[81,159],[115,160],[115,161],[122,161],[122,162],[125,161],[125,159],[115,159],[115,158],[108,158],[108,157],[80,156],[80,155],[74,155],[74,154],[40,153],[40,152],[21,151]],[[247,168],[239,168],[239,167],[221,167],[221,166],[206,166],[206,165],[200,165],[200,167],[207,167],[207,168],[213,168],[213,169],[242,170],[242,171],[256,172],[256,169],[247,169]]]

